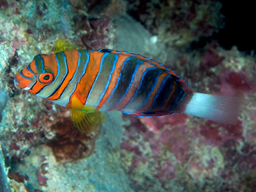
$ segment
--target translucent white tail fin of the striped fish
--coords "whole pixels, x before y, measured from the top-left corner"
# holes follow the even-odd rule
[[[249,104],[241,97],[194,93],[185,113],[224,124],[235,124],[241,111]]]

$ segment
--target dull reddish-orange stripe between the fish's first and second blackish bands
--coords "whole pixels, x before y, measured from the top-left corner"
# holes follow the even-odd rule
[[[122,101],[117,105],[113,106],[109,111],[115,109],[120,110],[127,106],[129,102],[131,101],[131,98],[134,97],[134,93],[138,89],[138,86],[140,85],[141,78],[143,77],[143,74],[148,68],[153,68],[154,66],[148,64],[147,62],[144,62],[138,67],[138,70],[136,71],[136,74],[134,75],[134,79],[132,79],[131,86],[129,87],[129,90],[125,97],[122,99]]]

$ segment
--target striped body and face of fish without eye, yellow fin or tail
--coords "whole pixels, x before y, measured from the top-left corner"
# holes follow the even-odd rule
[[[54,80],[44,84],[43,73]],[[35,78],[36,77],[36,78]],[[174,71],[157,61],[115,50],[68,50],[37,55],[15,77],[31,93],[71,108],[77,97],[97,111],[118,110],[140,116],[183,112],[192,90]]]

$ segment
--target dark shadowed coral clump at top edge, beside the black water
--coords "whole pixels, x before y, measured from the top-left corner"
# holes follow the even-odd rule
[[[165,44],[188,46],[223,28],[219,1],[128,0],[129,13]]]

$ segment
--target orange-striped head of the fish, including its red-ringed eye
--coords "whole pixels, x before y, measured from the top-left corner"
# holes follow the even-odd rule
[[[15,75],[15,86],[37,95],[40,90],[53,83],[58,67],[51,62],[53,55],[37,55],[33,61]]]

